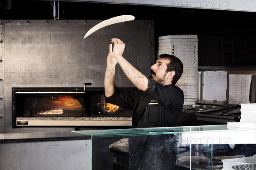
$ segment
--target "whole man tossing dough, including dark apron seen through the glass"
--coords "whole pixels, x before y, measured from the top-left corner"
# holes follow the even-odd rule
[[[122,40],[113,38],[111,42],[113,50],[110,44],[106,69],[112,71],[112,74],[104,80],[105,102],[133,111],[133,128],[175,126],[184,102],[183,91],[175,86],[183,73],[180,59],[169,54],[160,55],[156,63],[151,66],[151,75],[148,78],[122,56],[125,50],[125,43]],[[120,90],[116,87],[114,77],[117,63],[123,70],[133,73],[127,74],[127,77],[137,87],[136,90]],[[154,142],[155,151],[151,147],[153,144],[151,141],[154,140],[163,141]],[[172,153],[174,147],[171,146],[172,143],[174,143],[173,136],[137,136],[136,138],[131,136],[129,138],[130,169],[174,168],[175,156],[159,154]],[[162,151],[157,147],[161,147]],[[152,159],[150,159],[151,153],[154,155]]]

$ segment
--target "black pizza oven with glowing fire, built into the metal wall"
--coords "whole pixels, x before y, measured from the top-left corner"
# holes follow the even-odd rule
[[[113,116],[132,111],[106,103],[104,88],[12,88],[13,127],[99,126],[97,118]]]

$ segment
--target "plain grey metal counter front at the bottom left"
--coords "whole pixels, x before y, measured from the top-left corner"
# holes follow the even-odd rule
[[[90,140],[19,142],[13,137],[16,143],[0,144],[1,170],[91,170]]]

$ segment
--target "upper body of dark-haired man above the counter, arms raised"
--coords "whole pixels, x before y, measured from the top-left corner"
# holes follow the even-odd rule
[[[107,58],[107,70],[112,72],[104,81],[105,101],[133,111],[133,128],[175,126],[184,103],[183,91],[175,86],[183,73],[180,59],[169,54],[160,55],[151,66],[151,75],[148,78],[122,56],[125,43],[116,38],[112,42],[113,51],[110,44]],[[117,62],[123,70],[133,73],[127,74],[127,77],[137,90],[123,91],[116,87],[114,70]],[[158,107],[149,113],[152,102],[158,103]]]

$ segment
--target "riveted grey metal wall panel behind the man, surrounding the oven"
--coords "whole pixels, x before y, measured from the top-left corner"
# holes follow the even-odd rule
[[[117,23],[83,39],[101,21],[0,20],[1,133],[3,126],[5,131],[12,128],[12,87],[83,87],[84,82],[104,87],[105,74],[111,74],[106,58],[113,37],[125,42],[123,56],[149,75],[155,59],[154,21]],[[133,87],[125,74],[134,73],[119,65],[116,69],[116,85]]]

